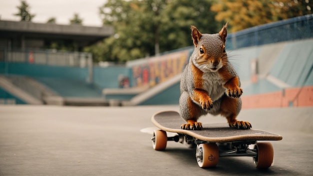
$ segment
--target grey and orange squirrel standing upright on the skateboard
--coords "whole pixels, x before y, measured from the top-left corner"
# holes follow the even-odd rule
[[[191,25],[194,50],[180,80],[180,116],[187,122],[181,129],[201,130],[197,122],[210,113],[225,116],[229,127],[249,129],[247,121],[237,121],[241,109],[242,89],[239,77],[225,51],[227,23],[218,33],[200,33]]]

